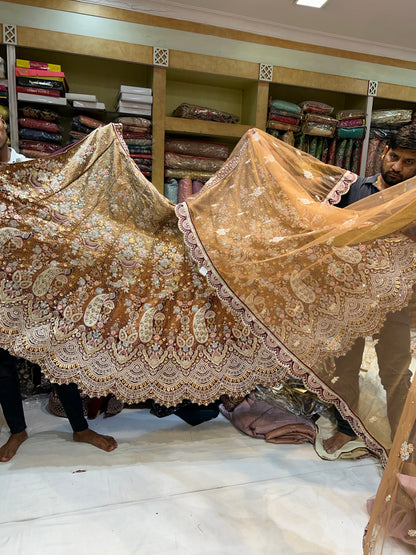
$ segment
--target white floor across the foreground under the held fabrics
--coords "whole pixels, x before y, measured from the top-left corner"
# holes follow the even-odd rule
[[[362,552],[373,458],[323,461],[309,444],[268,444],[222,415],[191,427],[147,409],[91,422],[119,443],[104,453],[72,442],[46,403],[25,401],[30,438],[0,466],[1,555]],[[4,442],[2,416],[0,427]]]

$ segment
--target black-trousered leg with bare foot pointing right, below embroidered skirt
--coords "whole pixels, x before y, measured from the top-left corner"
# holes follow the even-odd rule
[[[74,383],[55,384],[54,387],[73,430],[74,441],[90,443],[103,451],[113,451],[117,447],[117,442],[113,437],[98,434],[88,427],[77,385]]]

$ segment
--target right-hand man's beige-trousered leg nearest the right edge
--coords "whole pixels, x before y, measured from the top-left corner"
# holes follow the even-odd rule
[[[409,325],[388,317],[380,331],[375,348],[380,380],[386,390],[387,415],[393,438],[412,379],[409,370],[411,361]]]

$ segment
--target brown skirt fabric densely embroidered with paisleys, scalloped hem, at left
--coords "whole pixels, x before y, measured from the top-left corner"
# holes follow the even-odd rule
[[[127,403],[272,385],[273,354],[207,286],[120,132],[0,164],[0,345],[51,381]]]

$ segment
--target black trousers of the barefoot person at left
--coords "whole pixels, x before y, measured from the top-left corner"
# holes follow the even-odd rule
[[[26,429],[16,362],[17,359],[13,355],[0,349],[0,405],[12,434]],[[88,423],[84,417],[81,395],[77,385],[74,383],[54,384],[54,387],[73,431],[86,430]]]

